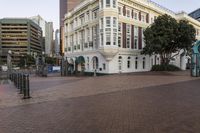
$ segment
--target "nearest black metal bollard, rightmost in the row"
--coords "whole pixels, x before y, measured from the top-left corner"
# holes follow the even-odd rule
[[[28,99],[30,98],[30,88],[29,88],[29,75],[28,74],[24,74],[24,97],[23,99]]]

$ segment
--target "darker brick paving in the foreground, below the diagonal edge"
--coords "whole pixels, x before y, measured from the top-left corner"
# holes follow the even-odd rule
[[[2,133],[198,133],[200,80],[0,110]]]

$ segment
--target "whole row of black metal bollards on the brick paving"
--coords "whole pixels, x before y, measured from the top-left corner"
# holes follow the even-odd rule
[[[31,98],[28,74],[12,73],[10,74],[10,80],[14,83],[15,87],[20,90],[19,93],[23,94],[23,99]]]

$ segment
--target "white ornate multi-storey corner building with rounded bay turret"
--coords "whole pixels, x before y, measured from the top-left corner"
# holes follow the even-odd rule
[[[174,13],[150,0],[83,0],[65,15],[65,57],[78,71],[129,73],[150,71],[159,56],[141,55],[143,30],[163,14],[188,20],[200,39],[200,22],[186,13]],[[175,65],[185,69],[185,57]]]

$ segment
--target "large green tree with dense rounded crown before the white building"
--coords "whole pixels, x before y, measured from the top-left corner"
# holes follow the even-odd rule
[[[142,54],[159,54],[161,64],[169,64],[170,59],[177,56],[180,50],[191,49],[195,42],[195,29],[185,20],[177,22],[169,15],[159,16],[144,31],[146,46]],[[173,54],[176,53],[176,54]]]

